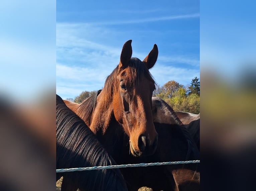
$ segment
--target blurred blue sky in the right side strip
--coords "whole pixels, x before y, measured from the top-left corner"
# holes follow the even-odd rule
[[[200,67],[234,84],[256,72],[256,1],[200,2]],[[255,73],[256,74],[256,73]]]

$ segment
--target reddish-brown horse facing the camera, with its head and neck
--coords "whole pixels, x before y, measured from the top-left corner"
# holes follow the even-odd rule
[[[86,122],[111,155],[118,154],[113,150],[113,145],[120,127],[129,136],[133,155],[151,155],[157,147],[158,135],[151,112],[155,82],[149,69],[157,60],[158,49],[154,45],[148,56],[140,61],[131,58],[131,42],[129,40],[124,44],[120,62],[107,77],[96,102],[90,99],[81,104],[65,101]]]

